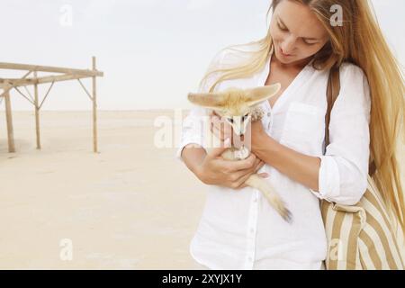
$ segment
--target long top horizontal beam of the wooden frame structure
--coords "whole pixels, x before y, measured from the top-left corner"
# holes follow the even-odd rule
[[[56,73],[66,73],[66,74],[79,74],[79,75],[86,75],[86,76],[103,76],[103,72],[96,71],[96,70],[74,69],[74,68],[66,68],[66,67],[50,67],[50,66],[4,63],[4,62],[0,62],[0,69],[30,70],[30,71],[37,71],[37,72],[56,72]]]

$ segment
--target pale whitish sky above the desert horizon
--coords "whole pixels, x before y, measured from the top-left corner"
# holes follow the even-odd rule
[[[2,0],[0,62],[91,68],[100,110],[190,108],[211,58],[266,35],[269,0]],[[405,64],[403,0],[373,0],[395,55]],[[69,16],[71,15],[71,17]],[[0,76],[23,71],[0,70]],[[90,81],[84,81],[90,88]],[[40,95],[48,85],[40,85]],[[16,92],[14,110],[32,110]],[[57,83],[42,110],[90,110],[77,81]],[[0,104],[4,110],[4,102]]]

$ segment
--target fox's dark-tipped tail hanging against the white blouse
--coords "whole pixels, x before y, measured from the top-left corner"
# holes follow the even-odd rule
[[[278,193],[275,192],[275,188],[273,188],[273,186],[264,178],[257,174],[252,174],[247,178],[245,184],[249,185],[250,187],[257,188],[264,193],[270,205],[275,208],[275,211],[277,211],[284,220],[289,223],[293,220],[292,213],[285,207],[283,200]]]

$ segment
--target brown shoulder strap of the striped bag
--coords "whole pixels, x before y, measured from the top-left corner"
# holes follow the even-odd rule
[[[330,68],[329,79],[328,79],[328,88],[327,88],[327,100],[328,100],[328,109],[325,114],[325,147],[323,148],[323,155],[326,153],[326,148],[329,145],[329,121],[330,121],[330,112],[332,111],[333,104],[338,98],[340,92],[340,75],[339,67]],[[373,176],[375,174],[376,166],[374,160],[368,166],[369,175]]]

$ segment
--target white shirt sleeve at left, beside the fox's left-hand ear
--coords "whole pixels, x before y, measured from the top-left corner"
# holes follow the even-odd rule
[[[211,70],[212,67],[220,68],[224,61],[225,56],[228,51],[226,49],[221,50],[217,53],[214,58],[212,58],[210,66],[207,71]],[[199,86],[199,93],[208,92],[211,85],[217,79],[218,73],[212,73],[207,80]],[[215,86],[214,92],[220,90],[220,84]],[[183,148],[188,144],[198,144],[202,148],[204,147],[204,116],[209,115],[209,109],[205,109],[198,106],[193,106],[188,115],[184,118],[182,122],[182,132],[180,138],[180,144],[175,152],[175,158],[183,162],[182,151]]]

